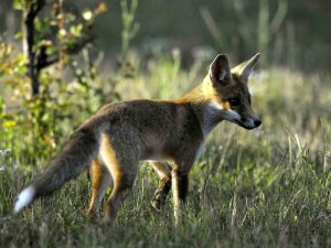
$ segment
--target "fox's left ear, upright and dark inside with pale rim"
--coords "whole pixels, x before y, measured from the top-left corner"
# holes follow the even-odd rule
[[[218,54],[210,66],[210,77],[214,84],[221,86],[228,85],[231,83],[231,71],[227,56]]]

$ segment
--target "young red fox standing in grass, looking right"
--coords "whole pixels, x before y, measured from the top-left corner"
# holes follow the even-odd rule
[[[131,100],[104,106],[70,137],[45,171],[19,194],[14,213],[36,197],[58,190],[89,166],[88,214],[95,213],[111,184],[105,219],[113,223],[134,185],[139,161],[150,160],[160,176],[151,204],[160,209],[172,187],[178,222],[188,195],[189,172],[211,130],[222,120],[245,129],[261,123],[250,106],[247,87],[258,58],[256,54],[231,69],[227,56],[218,54],[202,84],[179,99]],[[167,161],[173,162],[173,168]]]

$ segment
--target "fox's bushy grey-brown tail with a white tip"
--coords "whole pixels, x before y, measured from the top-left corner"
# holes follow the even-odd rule
[[[73,133],[63,150],[50,165],[18,196],[14,213],[31,204],[36,197],[58,190],[86,169],[96,158],[99,147],[98,133],[78,130]]]

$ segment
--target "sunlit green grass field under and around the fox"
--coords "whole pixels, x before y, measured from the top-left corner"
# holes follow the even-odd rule
[[[175,61],[163,66],[124,80],[124,99],[177,97],[201,79]],[[212,132],[178,227],[171,195],[162,213],[149,205],[158,179],[146,162],[113,228],[86,218],[86,173],[14,216],[14,197],[47,159],[2,158],[0,247],[331,247],[330,80],[276,68],[256,74],[261,128],[223,122]]]

